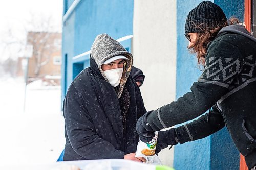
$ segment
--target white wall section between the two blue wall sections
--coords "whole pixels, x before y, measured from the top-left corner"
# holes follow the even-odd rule
[[[176,0],[135,0],[132,53],[134,66],[145,81],[141,93],[147,110],[175,100]],[[173,164],[173,149],[160,153],[165,165]]]

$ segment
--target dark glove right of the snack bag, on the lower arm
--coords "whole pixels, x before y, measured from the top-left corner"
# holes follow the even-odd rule
[[[175,138],[177,138],[177,134],[174,128],[166,131],[159,131],[156,153],[159,153],[162,149],[167,148],[168,145],[178,144],[178,142],[176,141],[177,139]]]

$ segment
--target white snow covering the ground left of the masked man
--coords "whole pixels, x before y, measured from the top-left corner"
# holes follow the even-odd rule
[[[24,110],[24,99],[26,107]],[[0,79],[0,166],[53,163],[65,147],[61,87]]]

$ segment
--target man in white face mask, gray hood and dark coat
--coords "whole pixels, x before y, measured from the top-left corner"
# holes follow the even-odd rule
[[[64,103],[64,161],[135,158],[137,120],[146,112],[129,76],[133,56],[108,34],[95,38],[90,67],[71,83]]]

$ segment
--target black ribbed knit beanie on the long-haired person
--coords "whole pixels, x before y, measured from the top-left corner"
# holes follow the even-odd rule
[[[211,30],[218,25],[223,25],[227,18],[221,7],[211,1],[203,1],[196,8],[192,9],[185,23],[185,33],[201,33],[203,32],[197,26],[203,29]]]

